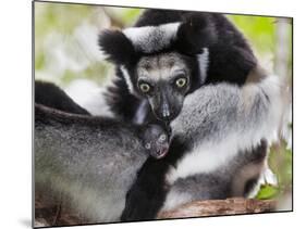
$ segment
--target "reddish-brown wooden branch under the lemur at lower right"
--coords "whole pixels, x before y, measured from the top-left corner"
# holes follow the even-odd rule
[[[198,201],[183,204],[173,211],[161,212],[158,218],[184,218],[218,215],[264,213],[276,209],[276,201],[234,198],[227,200]]]

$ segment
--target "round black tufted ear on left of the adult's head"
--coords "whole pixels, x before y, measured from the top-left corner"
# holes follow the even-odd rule
[[[99,35],[99,46],[107,59],[114,64],[124,65],[135,56],[132,42],[120,30],[103,30]]]

